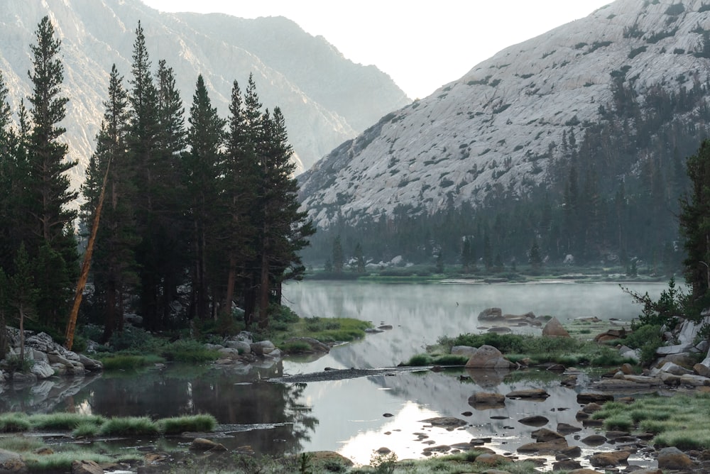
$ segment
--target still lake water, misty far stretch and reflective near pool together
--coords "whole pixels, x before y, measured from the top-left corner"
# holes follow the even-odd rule
[[[628,285],[657,297],[665,284]],[[105,374],[93,379],[53,378],[31,386],[6,387],[0,411],[81,411],[104,416],[170,417],[210,413],[230,425],[228,448],[251,446],[257,453],[339,451],[356,463],[368,463],[373,450],[386,446],[398,458],[420,458],[428,446],[468,443],[489,437],[486,446],[515,452],[537,429],[517,420],[531,414],[557,423],[579,425],[576,389],[559,381],[523,373],[400,373],[354,380],[279,384],[269,377],[320,372],[324,368],[392,367],[423,352],[439,336],[480,332],[479,312],[501,307],[504,313],[534,312],[571,319],[596,316],[628,321],[640,307],[612,283],[472,285],[386,285],[359,282],[300,282],[286,285],[285,302],[301,316],[354,317],[393,329],[364,341],[337,346],[317,360],[288,358],[280,363],[217,369],[170,366],[138,374]],[[536,329],[540,331],[540,329]],[[593,336],[593,335],[591,335]],[[464,377],[459,377],[463,375]],[[506,400],[506,407],[479,410],[468,404],[476,391],[505,395],[543,387],[544,402]],[[2,389],[0,389],[2,390]],[[471,412],[471,414],[468,414]],[[391,416],[384,416],[385,414]],[[447,431],[422,421],[457,417],[466,421]],[[493,417],[493,418],[492,418]],[[415,435],[416,434],[416,435]],[[584,436],[584,431],[582,432]],[[584,437],[581,436],[581,437]],[[569,443],[578,443],[568,436]],[[578,443],[584,453],[599,451]],[[611,446],[607,446],[611,448]]]

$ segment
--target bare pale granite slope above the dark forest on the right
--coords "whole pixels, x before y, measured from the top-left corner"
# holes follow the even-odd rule
[[[327,228],[398,206],[431,214],[524,195],[550,180],[563,134],[583,137],[620,86],[643,101],[652,88],[706,82],[709,37],[706,0],[616,0],[502,50],[346,141],[300,176],[303,206]]]

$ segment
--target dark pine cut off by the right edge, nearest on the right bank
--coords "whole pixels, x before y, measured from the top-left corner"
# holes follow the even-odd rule
[[[710,140],[704,140],[687,160],[690,194],[681,199],[680,233],[687,257],[685,281],[701,307],[710,301]]]

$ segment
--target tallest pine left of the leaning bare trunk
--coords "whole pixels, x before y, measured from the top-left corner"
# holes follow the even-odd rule
[[[76,211],[68,204],[77,197],[70,191],[67,171],[76,165],[67,161],[67,145],[58,139],[65,128],[58,126],[66,115],[68,99],[60,95],[64,67],[59,60],[60,40],[54,38],[54,27],[45,16],[37,31],[37,44],[31,45],[33,70],[28,72],[33,89],[28,97],[32,108],[32,131],[28,143],[29,186],[33,236],[27,236],[28,253],[42,255],[58,265],[50,269],[50,286],[39,286],[40,320],[59,327],[64,323],[72,285],[78,274],[77,243],[72,230]],[[41,255],[40,255],[41,256]],[[45,263],[47,263],[45,261]],[[48,275],[38,275],[48,276]]]

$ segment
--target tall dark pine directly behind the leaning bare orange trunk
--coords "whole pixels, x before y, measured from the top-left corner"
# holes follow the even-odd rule
[[[107,175],[107,189],[98,245],[92,258],[94,299],[105,314],[103,340],[123,329],[123,296],[136,284],[136,261],[133,248],[138,242],[133,222],[133,173],[129,157],[128,94],[116,65],[109,75],[108,98],[104,101],[104,119],[97,134],[97,148],[89,160],[82,194],[82,224],[90,230],[99,194]]]

